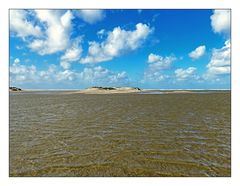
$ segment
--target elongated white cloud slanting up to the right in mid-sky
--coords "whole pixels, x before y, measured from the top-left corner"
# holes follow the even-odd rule
[[[101,43],[89,42],[88,55],[80,63],[99,63],[108,61],[124,52],[133,51],[141,46],[152,29],[146,24],[138,23],[134,31],[115,27],[107,39]]]

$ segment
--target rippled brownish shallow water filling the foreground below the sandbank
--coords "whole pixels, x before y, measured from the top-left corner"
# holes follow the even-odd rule
[[[230,92],[10,93],[10,176],[230,176]]]

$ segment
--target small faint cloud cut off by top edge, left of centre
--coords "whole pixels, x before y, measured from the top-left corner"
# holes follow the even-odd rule
[[[93,24],[101,21],[104,17],[103,10],[79,10],[79,16],[87,23]]]

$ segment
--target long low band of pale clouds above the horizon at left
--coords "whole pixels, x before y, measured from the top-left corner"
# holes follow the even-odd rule
[[[25,83],[73,83],[74,85],[127,85],[129,78],[125,71],[113,72],[101,66],[84,68],[82,71],[70,69],[61,70],[56,65],[50,65],[46,70],[38,70],[36,66],[13,63],[10,66],[11,84],[24,85]]]

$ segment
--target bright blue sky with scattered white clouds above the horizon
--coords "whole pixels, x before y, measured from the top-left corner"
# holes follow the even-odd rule
[[[10,86],[230,89],[230,10],[9,11]]]

